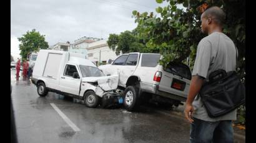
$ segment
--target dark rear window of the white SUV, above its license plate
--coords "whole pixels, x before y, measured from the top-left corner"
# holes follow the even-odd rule
[[[165,68],[165,71],[169,73],[173,73],[175,75],[182,76],[183,78],[187,78],[188,80],[191,80],[190,69],[184,63],[170,62]]]

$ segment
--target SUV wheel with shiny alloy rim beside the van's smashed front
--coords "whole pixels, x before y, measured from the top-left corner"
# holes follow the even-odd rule
[[[139,88],[128,86],[124,91],[124,108],[127,111],[135,111],[139,107]]]

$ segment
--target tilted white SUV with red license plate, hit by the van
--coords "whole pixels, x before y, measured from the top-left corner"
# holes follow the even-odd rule
[[[189,91],[190,68],[177,62],[170,62],[164,69],[159,65],[159,53],[127,53],[111,64],[99,69],[106,75],[119,74],[119,88],[124,91],[124,107],[133,111],[147,99],[164,101],[170,106],[179,106]]]

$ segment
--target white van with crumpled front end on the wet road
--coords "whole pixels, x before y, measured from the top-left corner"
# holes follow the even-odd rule
[[[46,96],[48,91],[52,91],[84,99],[86,106],[96,107],[106,93],[117,88],[118,77],[104,75],[84,55],[59,50],[40,50],[31,81],[37,86],[39,96]],[[122,103],[121,98],[119,101]]]

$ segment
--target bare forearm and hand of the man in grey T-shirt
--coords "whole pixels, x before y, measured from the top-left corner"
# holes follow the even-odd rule
[[[192,80],[189,88],[189,95],[187,96],[187,101],[185,103],[185,118],[189,120],[190,123],[194,122],[192,119],[192,113],[194,112],[194,108],[192,106],[192,102],[195,99],[195,96],[198,95],[202,85],[204,83],[204,78],[199,75],[192,76]]]

